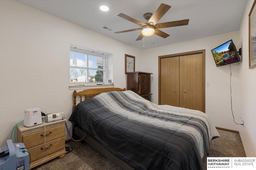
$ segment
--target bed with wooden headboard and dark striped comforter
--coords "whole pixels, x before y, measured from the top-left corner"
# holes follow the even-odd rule
[[[90,145],[123,169],[202,170],[202,158],[219,136],[207,114],[156,105],[130,90],[90,89],[73,96],[73,134],[85,132]]]

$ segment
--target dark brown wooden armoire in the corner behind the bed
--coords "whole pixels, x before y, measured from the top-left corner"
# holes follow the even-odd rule
[[[146,100],[151,101],[149,72],[127,72],[127,90],[132,90]]]

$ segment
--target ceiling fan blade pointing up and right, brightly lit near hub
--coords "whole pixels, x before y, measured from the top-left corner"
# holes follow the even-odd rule
[[[156,9],[152,17],[148,20],[147,24],[156,25],[156,23],[164,16],[164,14],[171,8],[171,6],[161,3]]]

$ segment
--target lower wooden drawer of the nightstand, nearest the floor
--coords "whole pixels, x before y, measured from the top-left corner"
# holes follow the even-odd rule
[[[48,147],[48,149],[45,149],[46,147],[45,147],[44,143],[42,145],[38,145],[36,147],[27,149],[28,152],[30,152],[31,161],[37,160],[46,155],[50,155],[58,150],[65,149],[65,137],[47,142],[46,146]],[[41,149],[41,148],[43,148],[43,149]]]

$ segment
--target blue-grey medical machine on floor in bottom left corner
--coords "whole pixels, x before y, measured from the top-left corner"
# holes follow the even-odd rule
[[[23,143],[12,143],[9,139],[0,148],[0,170],[28,170],[28,151]]]

